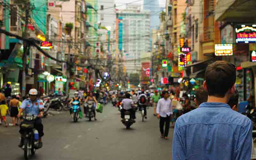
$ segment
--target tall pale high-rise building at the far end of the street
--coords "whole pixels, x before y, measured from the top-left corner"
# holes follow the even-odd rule
[[[150,11],[141,11],[139,5],[127,5],[126,9],[118,10],[117,17],[122,19],[123,44],[127,73],[140,72],[141,53],[150,51]],[[119,35],[120,37],[120,35]]]

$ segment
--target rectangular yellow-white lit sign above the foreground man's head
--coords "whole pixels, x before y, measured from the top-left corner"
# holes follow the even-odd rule
[[[232,56],[233,44],[215,44],[215,56]]]

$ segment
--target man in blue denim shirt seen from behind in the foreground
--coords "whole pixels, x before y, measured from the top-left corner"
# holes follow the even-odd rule
[[[216,61],[205,71],[208,100],[175,124],[173,160],[250,160],[252,123],[227,104],[235,92],[236,67]]]

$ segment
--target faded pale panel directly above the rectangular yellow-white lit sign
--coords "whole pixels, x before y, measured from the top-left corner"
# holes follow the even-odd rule
[[[228,24],[220,31],[221,44],[233,44],[233,27]]]

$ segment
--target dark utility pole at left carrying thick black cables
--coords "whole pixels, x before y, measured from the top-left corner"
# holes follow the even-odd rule
[[[26,18],[25,18],[25,30],[24,30],[24,38],[28,38],[28,18],[29,18],[29,9],[30,9],[30,3],[29,0],[27,2],[26,6]],[[26,41],[23,41],[23,70],[22,70],[22,96],[26,96],[26,62],[27,62],[27,53],[29,52],[28,43]]]

